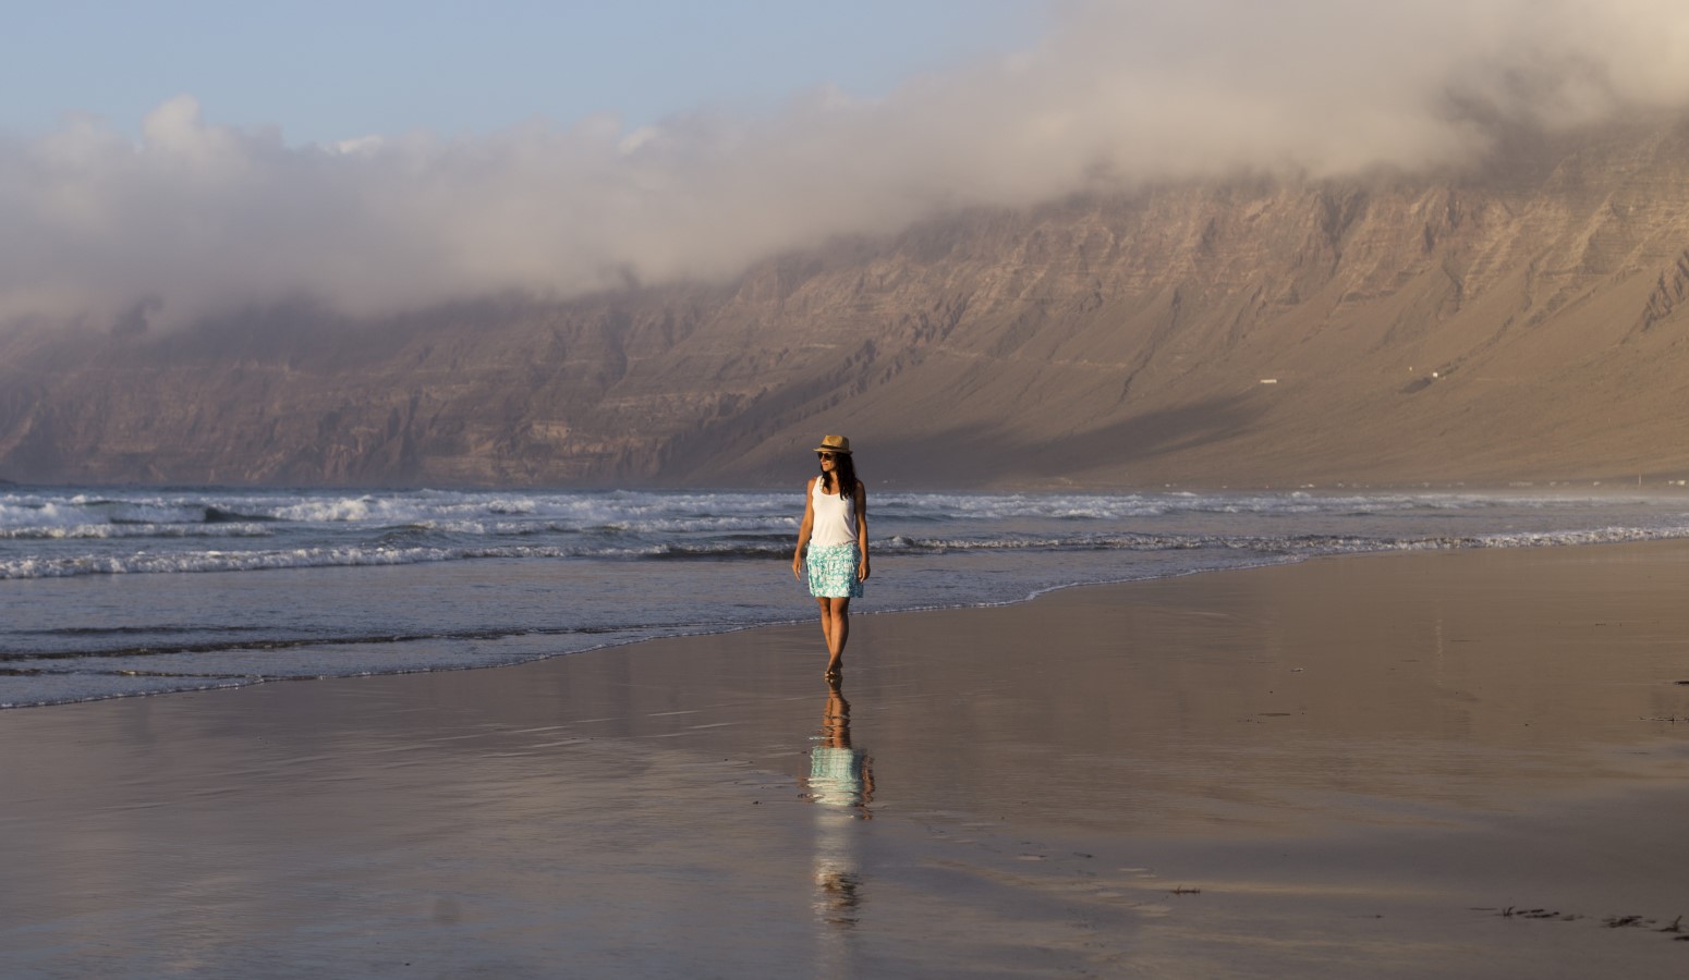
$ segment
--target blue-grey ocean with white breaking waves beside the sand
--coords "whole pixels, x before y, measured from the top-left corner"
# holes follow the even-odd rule
[[[807,621],[792,491],[0,487],[0,707]],[[873,493],[853,612],[1344,552],[1689,536],[1689,494]],[[824,660],[816,631],[814,649]]]

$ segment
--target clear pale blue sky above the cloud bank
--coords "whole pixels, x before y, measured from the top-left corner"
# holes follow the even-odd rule
[[[1044,0],[0,0],[0,132],[90,113],[133,135],[179,94],[294,145],[596,113],[638,127],[819,84],[883,96],[1045,25]]]

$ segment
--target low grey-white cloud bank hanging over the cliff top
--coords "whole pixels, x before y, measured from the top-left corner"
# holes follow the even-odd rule
[[[1677,0],[1074,2],[1054,24],[882,100],[812,91],[637,132],[601,116],[294,147],[179,96],[138,140],[90,120],[0,137],[0,322],[172,324],[296,297],[372,315],[720,278],[944,207],[1458,164],[1496,120],[1689,105]]]

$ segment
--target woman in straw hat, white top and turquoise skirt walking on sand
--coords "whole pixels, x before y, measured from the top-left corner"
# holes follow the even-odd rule
[[[850,639],[850,600],[861,597],[861,584],[868,579],[868,491],[856,479],[848,439],[823,437],[816,455],[821,476],[809,477],[804,487],[804,525],[797,528],[792,577],[809,579],[809,594],[821,606],[821,633],[828,638],[826,676],[838,676]]]

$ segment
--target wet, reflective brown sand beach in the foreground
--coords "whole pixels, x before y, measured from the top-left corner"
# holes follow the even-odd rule
[[[1370,555],[858,616],[843,702],[804,624],[0,712],[0,963],[1679,977],[1686,595]]]

